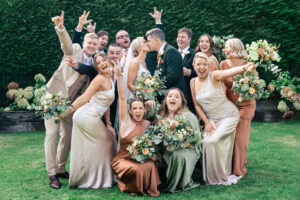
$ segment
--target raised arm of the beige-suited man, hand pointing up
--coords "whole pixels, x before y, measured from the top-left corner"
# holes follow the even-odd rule
[[[61,49],[64,52],[64,55],[69,55],[69,56],[72,55],[73,54],[72,41],[64,26],[64,11],[61,11],[60,16],[52,17],[51,20],[55,24],[55,31],[59,37]]]

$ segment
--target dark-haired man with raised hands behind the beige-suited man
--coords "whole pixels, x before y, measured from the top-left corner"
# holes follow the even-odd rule
[[[73,43],[78,43],[81,45],[81,34],[82,34],[82,29],[86,29],[89,33],[95,33],[96,30],[96,22],[94,23],[94,25],[91,24],[91,22],[93,20],[88,20],[88,16],[90,14],[90,11],[88,11],[86,13],[86,11],[83,11],[83,14],[79,17],[78,20],[78,25],[75,28],[75,32],[73,35],[73,39],[72,42]],[[84,27],[85,24],[89,24],[87,27]],[[109,42],[109,34],[108,32],[104,31],[104,30],[100,30],[97,32],[97,36],[99,38],[99,49],[97,50],[97,52],[102,52],[103,54],[107,53],[107,49],[106,46]]]

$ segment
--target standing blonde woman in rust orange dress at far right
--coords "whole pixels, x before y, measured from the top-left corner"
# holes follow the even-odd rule
[[[221,62],[222,70],[231,69],[236,66],[248,63],[248,61],[243,59],[247,55],[244,44],[237,38],[229,39],[226,41],[224,53],[227,57],[227,60]],[[233,76],[226,78],[223,83],[226,87],[227,98],[231,102],[235,103],[238,100],[239,96],[235,95],[231,90],[232,78]],[[254,117],[255,108],[255,99],[251,99],[249,101],[244,100],[238,106],[240,112],[240,122],[236,128],[234,141],[233,174],[236,176],[240,176],[239,178],[242,178],[247,173],[247,149],[250,137],[251,120]]]

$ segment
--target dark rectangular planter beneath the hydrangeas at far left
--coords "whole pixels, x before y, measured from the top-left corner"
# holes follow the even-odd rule
[[[0,132],[44,130],[44,120],[33,111],[0,111]]]

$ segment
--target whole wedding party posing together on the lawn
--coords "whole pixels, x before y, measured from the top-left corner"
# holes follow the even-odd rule
[[[236,75],[257,76],[255,65],[244,59],[238,38],[226,41],[223,61],[208,34],[191,48],[189,28],[178,30],[174,48],[162,12],[150,13],[156,27],[145,35],[131,41],[120,30],[109,45],[108,32],[95,33],[90,12],[79,17],[73,39],[64,12],[52,18],[64,55],[46,86],[71,103],[58,122],[45,119],[50,187],[61,188],[59,178],[66,178],[70,188],[117,184],[131,195],[159,196],[198,187],[197,168],[206,185],[236,184],[247,174],[256,101],[236,104],[232,86]],[[157,63],[149,52],[157,52]]]

